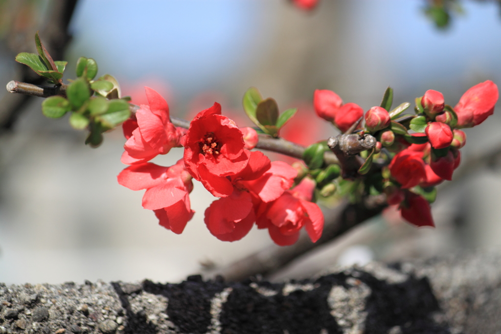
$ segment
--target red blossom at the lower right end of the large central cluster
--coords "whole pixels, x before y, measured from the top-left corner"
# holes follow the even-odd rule
[[[313,242],[322,236],[324,215],[317,204],[310,202],[314,190],[315,181],[304,178],[296,187],[287,190],[266,207],[260,223],[266,223],[276,244],[292,245],[298,240],[303,226]]]

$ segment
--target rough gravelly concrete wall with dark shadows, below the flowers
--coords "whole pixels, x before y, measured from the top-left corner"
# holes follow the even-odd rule
[[[309,280],[0,283],[0,334],[495,333],[501,257],[463,255]]]

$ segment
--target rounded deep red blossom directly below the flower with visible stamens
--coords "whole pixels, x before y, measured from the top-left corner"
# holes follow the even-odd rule
[[[255,221],[252,198],[245,191],[235,190],[231,195],[213,201],[205,210],[205,225],[222,241],[240,240]]]

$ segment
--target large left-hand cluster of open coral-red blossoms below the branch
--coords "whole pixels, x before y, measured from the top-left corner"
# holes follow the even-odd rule
[[[188,195],[195,179],[218,197],[205,210],[204,222],[220,240],[239,240],[255,223],[267,228],[279,245],[296,242],[303,226],[313,242],[320,238],[324,217],[311,202],[315,181],[304,178],[293,187],[297,169],[249,151],[258,142],[256,130],[238,128],[221,115],[218,103],[199,112],[187,131],[176,128],[165,100],[149,88],[146,95],[149,105],[141,105],[123,126],[127,142],[122,162],[131,166],[118,175],[118,182],[146,189],[143,207],[155,212],[160,225],[183,231],[194,213]],[[148,162],[179,146],[184,155],[175,165]]]

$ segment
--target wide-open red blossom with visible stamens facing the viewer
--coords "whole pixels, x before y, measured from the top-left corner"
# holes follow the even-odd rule
[[[216,197],[233,192],[227,176],[241,172],[250,158],[243,134],[236,124],[221,115],[218,103],[199,112],[183,137],[184,164],[195,178]]]

